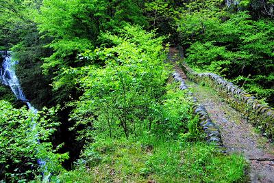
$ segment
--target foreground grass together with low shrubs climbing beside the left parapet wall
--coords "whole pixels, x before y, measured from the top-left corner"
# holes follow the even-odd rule
[[[157,126],[129,139],[98,136],[56,182],[245,182],[244,158],[203,141],[184,92],[167,88]]]

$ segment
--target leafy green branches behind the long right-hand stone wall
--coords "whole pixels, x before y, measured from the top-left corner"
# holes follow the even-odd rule
[[[273,27],[271,20],[255,21],[247,12],[238,12],[225,21],[221,17],[203,19],[202,34],[201,25],[193,26],[184,18],[178,30],[192,42],[186,54],[188,64],[226,76],[273,102]]]

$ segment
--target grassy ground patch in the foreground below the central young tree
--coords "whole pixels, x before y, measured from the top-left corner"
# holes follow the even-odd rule
[[[156,138],[108,139],[87,147],[82,158],[60,182],[244,182],[247,167],[242,156],[214,145]]]

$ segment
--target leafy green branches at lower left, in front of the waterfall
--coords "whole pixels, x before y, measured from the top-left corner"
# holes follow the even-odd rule
[[[14,109],[4,100],[0,101],[0,106],[1,180],[26,182],[41,172],[45,175],[58,173],[67,154],[56,153],[49,142],[58,126],[51,121],[55,109],[45,109],[36,115],[25,107]],[[38,167],[36,160],[44,161],[45,165]]]

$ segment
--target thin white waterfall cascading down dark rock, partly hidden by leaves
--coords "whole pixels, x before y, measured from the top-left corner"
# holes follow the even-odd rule
[[[18,61],[12,60],[12,55],[9,51],[0,51],[0,56],[3,55],[3,63],[0,68],[0,81],[3,83],[3,85],[10,86],[10,89],[12,89],[12,92],[16,96],[17,100],[21,100],[22,102],[25,102],[27,104],[27,107],[33,112],[38,113],[38,110],[35,109],[32,104],[27,100],[25,97],[25,94],[23,93],[23,89],[21,88],[21,85],[19,83],[19,80],[15,73],[15,65],[18,64]],[[32,126],[32,130],[36,128],[36,124]],[[40,143],[39,139],[37,139],[38,143]],[[40,167],[44,167],[47,169],[47,163],[45,160],[38,159],[37,163]],[[43,182],[49,182],[49,175],[43,174]]]

